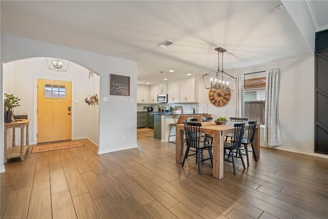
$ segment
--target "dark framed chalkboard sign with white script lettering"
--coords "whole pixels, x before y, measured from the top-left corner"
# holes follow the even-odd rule
[[[130,96],[130,77],[110,74],[110,95]]]

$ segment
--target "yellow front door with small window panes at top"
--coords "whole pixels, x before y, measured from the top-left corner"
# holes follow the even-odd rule
[[[37,79],[37,143],[71,139],[72,83]]]

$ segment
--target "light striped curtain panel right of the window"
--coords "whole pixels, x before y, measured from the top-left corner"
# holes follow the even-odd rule
[[[264,145],[280,146],[282,145],[278,114],[280,69],[275,68],[267,70],[266,74]]]

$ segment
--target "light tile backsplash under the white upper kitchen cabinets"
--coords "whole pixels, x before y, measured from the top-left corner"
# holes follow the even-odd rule
[[[186,104],[137,104],[137,111],[144,111],[144,107],[153,106],[154,111],[157,111],[158,106],[161,107],[175,107],[182,106],[183,113],[193,113],[193,109],[195,109],[195,113],[208,113],[208,103],[186,103]],[[147,111],[147,110],[146,110]]]

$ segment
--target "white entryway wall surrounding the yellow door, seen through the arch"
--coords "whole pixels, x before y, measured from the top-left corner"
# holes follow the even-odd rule
[[[19,107],[14,109],[15,113],[27,113],[31,119],[29,125],[30,144],[36,144],[37,118],[36,118],[36,85],[37,78],[55,79],[72,82],[72,139],[90,138],[98,145],[98,107],[88,106],[84,102],[87,95],[99,93],[99,76],[94,75],[89,79],[89,71],[70,63],[67,72],[55,72],[49,70],[46,58],[29,58],[4,64],[4,92],[14,94],[22,99]],[[75,103],[75,101],[79,103]],[[93,120],[87,124],[86,117],[91,115],[93,109]],[[34,117],[35,115],[35,117]],[[93,127],[92,132],[87,131],[87,127]],[[95,132],[95,133],[94,133]],[[8,148],[11,145],[11,130],[8,130]],[[20,135],[16,135],[16,144],[20,143]]]

